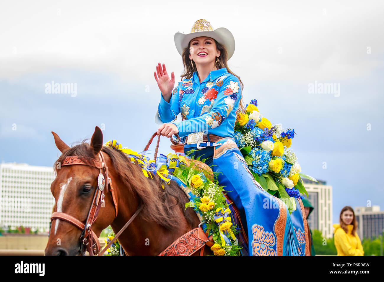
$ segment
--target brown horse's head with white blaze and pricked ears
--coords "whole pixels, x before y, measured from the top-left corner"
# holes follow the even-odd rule
[[[53,211],[65,214],[70,220],[52,219],[45,255],[81,255],[84,252],[81,249],[83,242],[80,240],[83,231],[71,221],[77,219],[79,222],[86,224],[89,211],[94,202],[94,196],[99,192],[98,178],[101,169],[92,164],[101,163],[99,153],[103,147],[103,134],[99,127],[96,127],[90,144],[83,141],[82,144],[72,148],[66,145],[55,132],[52,132],[52,134],[55,138],[56,147],[62,153],[54,166],[56,178],[51,183],[51,193],[55,198]],[[111,160],[107,154],[104,155],[108,167],[111,165]],[[79,157],[84,161],[83,165],[64,165],[63,161],[68,156]],[[91,165],[84,165],[88,163]],[[111,193],[107,193],[108,179],[104,183],[106,187],[104,188],[105,202],[103,203],[103,199],[99,198],[102,208],[99,208],[97,219],[91,224],[91,230],[96,235],[93,235],[92,244],[98,244],[95,241],[100,236],[101,231],[111,224],[116,216],[114,205],[105,204],[106,202],[113,202],[113,199]]]

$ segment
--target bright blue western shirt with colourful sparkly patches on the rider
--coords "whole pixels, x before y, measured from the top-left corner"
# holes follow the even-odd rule
[[[182,121],[173,124],[182,138],[192,132],[234,138],[240,98],[239,80],[227,68],[210,71],[202,82],[195,71],[192,79],[183,79],[173,89],[169,103],[161,95],[159,117],[169,123],[181,112]]]

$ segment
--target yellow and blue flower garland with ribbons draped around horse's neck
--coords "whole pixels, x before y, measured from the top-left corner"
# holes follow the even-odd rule
[[[141,168],[146,177],[152,177],[147,172],[151,171],[161,177],[166,184],[170,183],[171,175],[179,178],[185,184],[187,190],[192,195],[190,201],[185,203],[185,208],[192,207],[206,221],[203,225],[206,226],[204,231],[210,235],[215,242],[211,250],[216,256],[238,256],[240,255],[241,247],[238,246],[238,241],[235,234],[238,233],[236,226],[233,226],[230,218],[230,209],[226,198],[223,194],[223,186],[218,185],[217,179],[210,180],[204,175],[202,170],[196,170],[194,163],[190,162],[187,166],[185,157],[182,155],[168,154],[167,156],[160,154],[156,159],[150,160],[145,154],[150,151],[137,153],[129,148],[123,148],[116,140],[108,141],[104,146],[112,147],[116,150],[121,150],[131,158],[132,162],[136,162]],[[197,158],[199,160],[199,158]],[[202,160],[204,162],[204,159]],[[165,186],[165,187],[164,187]],[[162,185],[166,189],[166,185]],[[108,234],[106,242],[114,237],[113,231]],[[109,242],[109,241],[108,241]],[[112,245],[107,256],[118,256],[120,254],[120,244],[118,240]],[[108,244],[108,243],[107,243]]]

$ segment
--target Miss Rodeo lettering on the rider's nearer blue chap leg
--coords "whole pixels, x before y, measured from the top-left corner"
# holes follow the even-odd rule
[[[253,255],[254,256],[276,256],[274,249],[276,239],[272,232],[264,230],[262,225],[254,224],[252,226],[253,233]]]

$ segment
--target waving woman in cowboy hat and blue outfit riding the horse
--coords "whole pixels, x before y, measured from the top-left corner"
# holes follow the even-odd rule
[[[169,77],[165,64],[156,66],[158,116],[164,122],[157,134],[178,134],[184,153],[193,149],[190,157],[206,158],[219,173],[219,184],[226,186],[248,233],[248,244],[240,240],[243,255],[299,254],[286,205],[253,178],[234,140],[237,111],[244,112],[244,107],[242,81],[227,65],[235,51],[232,33],[198,20],[190,33],[176,33],[174,40],[185,71],[174,87],[174,73]],[[180,112],[182,120],[175,121]]]

